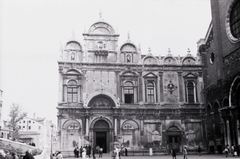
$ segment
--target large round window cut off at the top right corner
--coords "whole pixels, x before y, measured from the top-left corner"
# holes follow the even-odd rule
[[[235,1],[230,12],[230,29],[235,38],[240,38],[240,1]]]

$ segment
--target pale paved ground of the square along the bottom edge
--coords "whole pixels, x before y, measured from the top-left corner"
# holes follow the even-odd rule
[[[217,154],[217,155],[211,155],[211,154],[203,154],[201,156],[199,155],[188,155],[188,159],[226,159],[224,154]],[[227,159],[236,159],[240,158],[240,156],[233,157],[228,156]],[[64,159],[76,159],[74,157],[64,158]],[[81,158],[79,158],[81,159]],[[92,159],[92,158],[90,158]],[[112,159],[110,154],[103,154],[103,158],[98,158],[96,156],[96,159]],[[158,155],[158,156],[121,156],[121,159],[172,159],[171,155]],[[177,155],[177,159],[183,159],[183,156],[181,154]]]

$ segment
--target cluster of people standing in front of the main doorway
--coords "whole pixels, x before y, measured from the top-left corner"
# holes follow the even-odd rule
[[[99,158],[102,158],[102,152],[103,148],[100,146],[96,146],[96,149],[92,149],[90,145],[84,145],[83,147],[81,146],[80,148],[75,147],[73,150],[74,157],[79,158],[79,156],[83,159],[90,158],[91,157],[91,152],[92,152],[92,157],[95,159],[95,154],[99,154]]]

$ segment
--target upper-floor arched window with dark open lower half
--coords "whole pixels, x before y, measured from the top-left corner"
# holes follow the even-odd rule
[[[134,87],[132,82],[124,84],[124,98],[125,103],[134,103]]]

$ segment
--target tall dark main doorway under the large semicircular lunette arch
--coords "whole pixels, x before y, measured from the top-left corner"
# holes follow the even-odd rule
[[[94,147],[97,145],[103,148],[103,152],[110,151],[110,129],[105,120],[98,120],[93,126]]]

